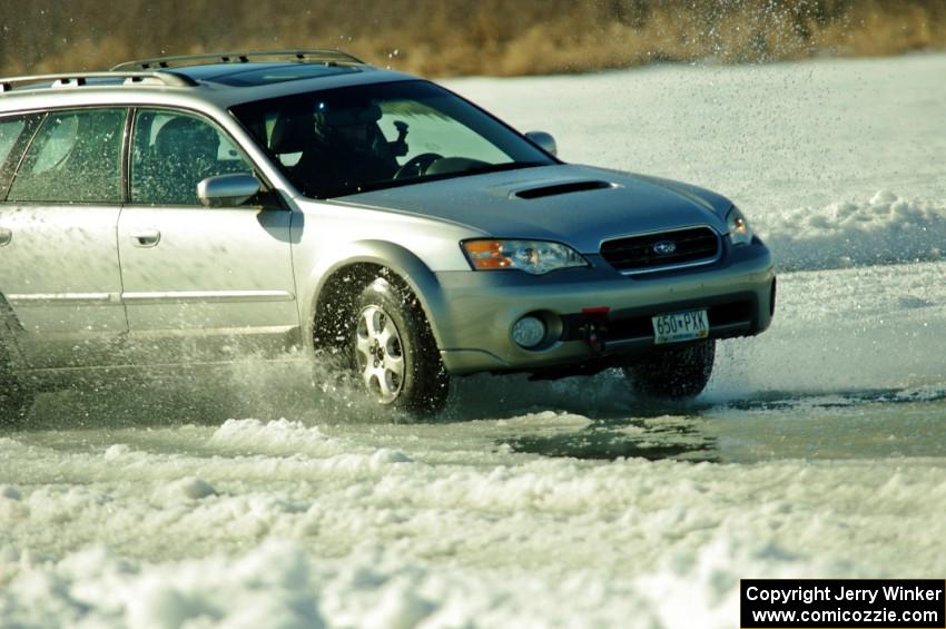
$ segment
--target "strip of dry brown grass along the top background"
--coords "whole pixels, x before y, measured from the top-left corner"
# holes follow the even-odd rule
[[[425,76],[946,48],[946,0],[0,0],[0,73],[333,47]]]

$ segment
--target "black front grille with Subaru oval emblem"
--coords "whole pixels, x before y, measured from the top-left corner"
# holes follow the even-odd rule
[[[658,253],[658,244],[672,243]],[[601,245],[601,257],[624,273],[647,273],[681,264],[708,264],[720,252],[719,235],[709,227],[691,227],[608,240]]]

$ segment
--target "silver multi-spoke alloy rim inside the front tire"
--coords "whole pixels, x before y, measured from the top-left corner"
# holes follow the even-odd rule
[[[404,346],[394,321],[382,308],[368,306],[358,315],[355,356],[365,386],[390,404],[404,386]]]

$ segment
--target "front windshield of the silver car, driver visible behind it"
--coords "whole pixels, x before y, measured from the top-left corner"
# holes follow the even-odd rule
[[[555,163],[426,81],[293,95],[240,105],[233,114],[314,198]]]

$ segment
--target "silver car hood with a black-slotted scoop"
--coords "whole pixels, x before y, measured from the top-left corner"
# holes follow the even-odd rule
[[[725,233],[731,205],[686,184],[572,165],[425,181],[335,203],[449,220],[489,236],[556,240],[584,254],[629,234],[691,225]]]

